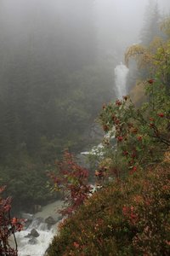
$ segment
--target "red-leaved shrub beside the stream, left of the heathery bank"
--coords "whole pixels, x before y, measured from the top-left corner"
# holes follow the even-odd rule
[[[63,215],[70,215],[81,206],[91,193],[88,185],[88,170],[77,165],[73,156],[65,151],[63,160],[56,161],[57,173],[48,172],[53,182],[53,191],[61,191],[65,195]]]

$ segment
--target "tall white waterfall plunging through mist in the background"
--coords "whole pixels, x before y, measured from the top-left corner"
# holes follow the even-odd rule
[[[122,63],[115,68],[116,96],[119,99],[127,95],[126,84],[128,71],[128,68]]]

